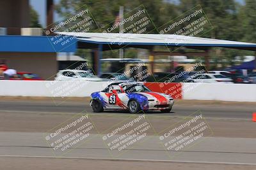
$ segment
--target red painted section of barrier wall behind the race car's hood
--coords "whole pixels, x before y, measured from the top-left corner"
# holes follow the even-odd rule
[[[147,82],[145,85],[153,92],[170,94],[173,99],[182,99],[182,83]]]

